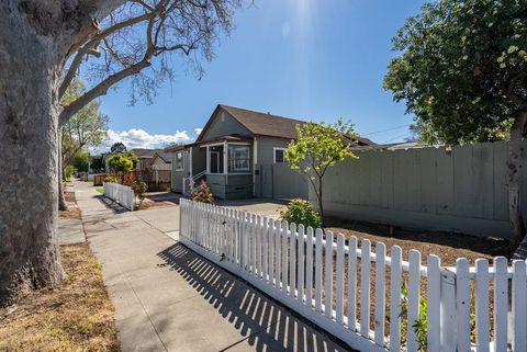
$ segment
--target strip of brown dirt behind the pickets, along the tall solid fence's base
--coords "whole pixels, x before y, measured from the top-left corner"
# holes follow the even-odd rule
[[[403,249],[404,260],[407,260],[411,249],[418,250],[424,261],[426,261],[426,256],[436,254],[441,259],[441,265],[444,266],[456,265],[458,258],[467,258],[471,265],[474,265],[478,258],[492,259],[496,256],[511,258],[513,254],[508,249],[508,241],[500,238],[391,228],[383,225],[341,219],[327,219],[326,228],[334,234],[341,232],[346,237],[356,236],[359,240],[369,239],[373,246],[377,242],[383,242],[386,245],[386,251],[393,246],[400,246]]]

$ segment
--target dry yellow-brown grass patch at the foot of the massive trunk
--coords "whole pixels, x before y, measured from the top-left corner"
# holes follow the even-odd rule
[[[120,351],[114,307],[87,243],[60,247],[66,279],[0,310],[0,351]]]

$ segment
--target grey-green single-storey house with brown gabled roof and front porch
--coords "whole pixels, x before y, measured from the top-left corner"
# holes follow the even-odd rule
[[[273,166],[304,121],[217,105],[198,139],[165,149],[172,154],[172,191],[188,193],[205,180],[220,198],[273,197]],[[357,138],[354,145],[373,143]]]

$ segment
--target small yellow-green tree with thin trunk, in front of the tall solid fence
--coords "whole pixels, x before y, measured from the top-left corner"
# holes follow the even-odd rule
[[[296,126],[298,139],[285,150],[289,167],[310,180],[316,198],[322,223],[324,222],[323,180],[327,170],[337,162],[358,158],[350,144],[356,137],[351,123],[338,120],[335,124],[309,122]]]

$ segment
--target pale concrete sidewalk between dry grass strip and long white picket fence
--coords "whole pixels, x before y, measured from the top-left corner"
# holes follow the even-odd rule
[[[80,182],[76,196],[123,351],[347,351],[165,235],[177,206],[120,213]]]

